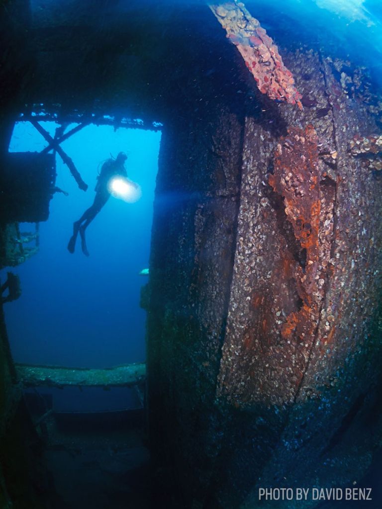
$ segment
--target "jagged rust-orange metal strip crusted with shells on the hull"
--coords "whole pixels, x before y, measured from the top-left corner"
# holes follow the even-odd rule
[[[321,208],[317,135],[311,125],[305,131],[289,128],[288,133],[277,146],[274,174],[270,175],[269,184],[284,197],[287,219],[303,250],[293,275],[302,305],[287,317],[281,335],[284,338],[293,335],[304,341],[316,328],[324,286],[324,279],[316,277],[319,274]]]

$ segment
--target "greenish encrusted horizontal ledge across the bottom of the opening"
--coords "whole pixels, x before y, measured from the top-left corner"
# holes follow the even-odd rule
[[[103,369],[16,364],[24,387],[131,387],[146,379],[146,364],[124,364]]]

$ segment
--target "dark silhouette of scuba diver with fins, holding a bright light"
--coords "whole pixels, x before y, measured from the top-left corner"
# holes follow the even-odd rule
[[[89,224],[93,221],[98,212],[105,205],[107,200],[110,198],[110,191],[108,190],[108,183],[116,175],[127,177],[124,162],[127,159],[127,155],[124,152],[120,152],[116,159],[107,159],[101,168],[101,172],[97,177],[97,185],[95,186],[96,195],[94,197],[93,204],[84,212],[83,215],[73,223],[73,235],[71,236],[68,244],[68,251],[74,253],[75,243],[77,240],[78,233],[81,237],[81,248],[86,256],[89,256],[89,251],[86,246],[85,230]]]

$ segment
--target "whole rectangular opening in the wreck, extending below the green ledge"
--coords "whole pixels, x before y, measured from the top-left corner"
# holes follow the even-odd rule
[[[40,222],[36,216],[35,223],[14,223],[15,245],[28,253],[25,263],[20,263],[21,258],[9,263],[13,267],[3,263],[2,284],[7,271],[18,276],[21,283],[19,298],[5,305],[13,360],[19,375],[26,378],[25,366],[31,365],[41,366],[40,375],[45,378],[45,366],[84,369],[71,380],[68,372],[51,373],[45,386],[29,378],[33,387],[26,392],[43,394],[54,411],[139,408],[143,404],[142,387],[140,390],[139,384],[129,383],[127,378],[122,383],[123,374],[119,385],[116,380],[118,376],[121,380],[122,371],[110,369],[137,363],[137,377],[144,380],[146,312],[140,301],[148,281],[161,124],[146,129],[139,119],[126,119],[125,125],[120,122],[116,128],[114,118],[104,116],[97,121],[100,125],[79,127],[79,122],[60,125],[34,114],[32,122],[23,118],[16,122],[9,156],[35,160],[43,153],[42,159],[54,159],[55,175],[50,182],[47,221]],[[36,122],[44,135],[36,129]],[[73,134],[65,139],[71,131]],[[46,133],[53,140],[64,138],[59,149],[71,159],[80,181],[88,185],[86,192],[73,178],[58,147],[49,144]],[[102,164],[119,152],[127,154],[127,177],[139,184],[142,195],[135,203],[110,196],[86,230],[90,256],[81,252],[80,238],[70,253],[67,245],[73,222],[93,203]],[[23,169],[28,174],[28,164]],[[27,189],[24,185],[22,192]],[[31,206],[34,203],[33,199]],[[109,378],[103,376],[102,369]]]

